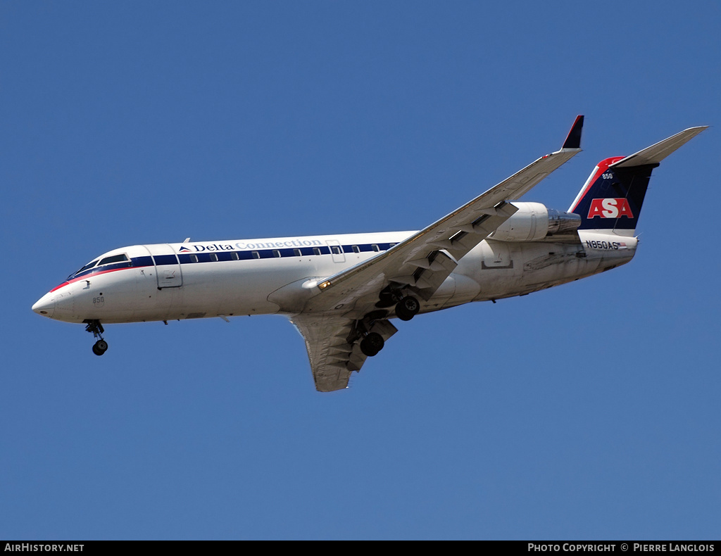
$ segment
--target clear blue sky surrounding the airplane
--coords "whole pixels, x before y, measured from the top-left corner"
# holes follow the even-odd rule
[[[588,4],[588,5],[587,5]],[[315,392],[283,317],[30,306],[138,243],[419,229],[542,154],[721,118],[717,2],[0,5],[0,538],[718,539],[712,127],[622,268],[402,323]]]

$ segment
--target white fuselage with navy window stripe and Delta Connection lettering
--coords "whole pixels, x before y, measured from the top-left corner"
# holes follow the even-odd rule
[[[76,273],[33,310],[66,322],[163,321],[298,314],[322,278],[388,250],[413,232],[134,245],[98,257],[127,261]],[[578,231],[578,242],[486,239],[459,261],[421,312],[518,296],[632,259],[637,239]],[[175,258],[177,255],[177,259]],[[351,311],[352,307],[344,310]]]

